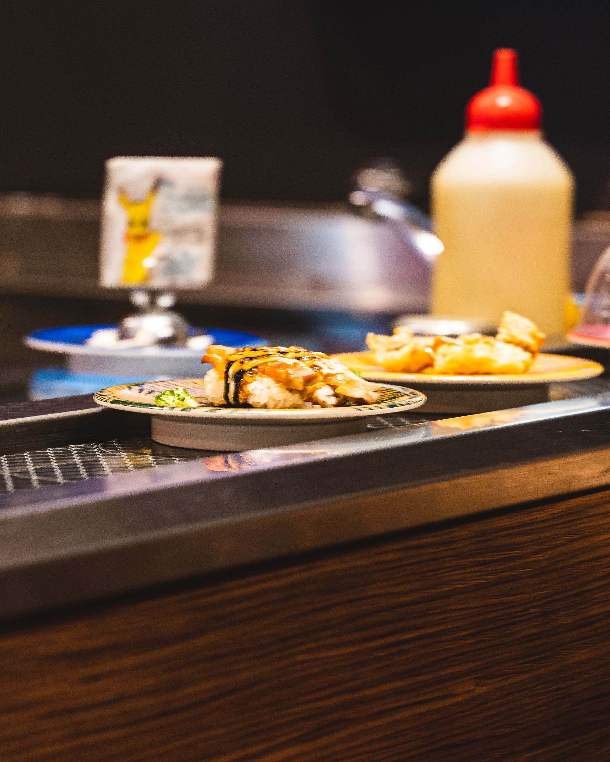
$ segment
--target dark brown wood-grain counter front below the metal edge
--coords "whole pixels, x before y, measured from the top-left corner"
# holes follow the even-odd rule
[[[610,759],[610,491],[0,636],[0,759]]]

